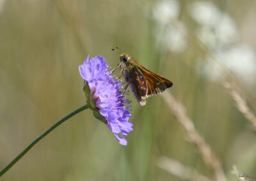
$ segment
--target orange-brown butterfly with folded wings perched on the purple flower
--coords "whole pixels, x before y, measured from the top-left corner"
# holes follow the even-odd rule
[[[120,50],[120,48],[116,48]],[[115,51],[115,49],[112,50]],[[160,94],[173,86],[170,80],[141,66],[127,53],[120,54],[120,64],[118,66],[127,83],[125,89],[128,86],[131,87],[134,97],[141,106],[146,104],[146,98]]]

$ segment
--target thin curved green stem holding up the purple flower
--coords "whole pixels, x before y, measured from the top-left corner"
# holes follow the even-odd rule
[[[77,110],[74,110],[74,112],[68,114],[67,116],[63,117],[63,119],[59,120],[58,122],[56,122],[54,125],[52,125],[52,127],[50,127],[49,129],[47,129],[43,134],[41,134],[40,136],[38,136],[32,143],[30,143],[28,145],[28,147],[26,147],[20,154],[19,156],[15,157],[15,159],[13,159],[13,161],[11,163],[9,163],[3,170],[1,170],[0,172],[0,177],[6,172],[8,171],[13,164],[17,163],[17,161],[19,161],[20,158],[22,158],[24,156],[24,154],[26,154],[38,141],[40,141],[42,138],[44,138],[44,136],[46,136],[47,134],[49,134],[53,129],[55,129],[56,127],[60,126],[60,124],[62,124],[63,122],[65,122],[65,120],[70,119],[70,117],[73,117],[74,115],[76,115],[77,113],[86,110],[88,108],[88,104],[81,106],[81,108],[78,108]]]

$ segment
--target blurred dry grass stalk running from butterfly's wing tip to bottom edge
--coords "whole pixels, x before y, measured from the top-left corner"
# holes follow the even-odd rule
[[[177,117],[177,120],[185,128],[188,140],[196,145],[196,148],[200,152],[204,163],[214,171],[215,180],[227,180],[219,159],[215,156],[214,152],[212,152],[209,145],[205,143],[200,134],[198,134],[198,132],[195,130],[195,126],[186,115],[186,110],[182,103],[173,98],[173,96],[168,92],[165,92],[162,95],[164,97],[164,101],[166,101],[175,117]]]

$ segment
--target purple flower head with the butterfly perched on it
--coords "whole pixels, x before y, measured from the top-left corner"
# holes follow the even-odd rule
[[[79,66],[79,72],[88,83],[92,100],[96,103],[94,110],[107,120],[108,128],[114,133],[119,143],[127,145],[124,136],[132,131],[132,123],[128,122],[131,118],[129,106],[124,104],[129,104],[131,101],[125,99],[120,91],[119,80],[111,78],[104,57],[98,55],[90,58],[88,55],[83,65]]]

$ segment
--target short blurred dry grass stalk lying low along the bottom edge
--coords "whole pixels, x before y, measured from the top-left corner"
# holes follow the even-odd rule
[[[157,159],[157,166],[184,180],[212,181],[210,178],[198,173],[198,171],[195,169],[184,166],[183,164],[179,163],[179,161],[175,161],[166,156],[160,156]]]

